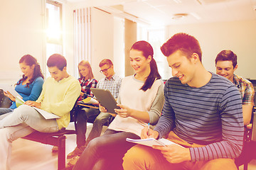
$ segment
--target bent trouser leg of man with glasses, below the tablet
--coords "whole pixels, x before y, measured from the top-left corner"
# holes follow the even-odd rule
[[[87,138],[87,143],[89,143],[91,140],[93,140],[95,137],[99,137],[100,133],[102,132],[102,127],[104,123],[107,122],[107,119],[110,118],[110,113],[100,113],[97,115],[97,118],[95,119],[92,130],[90,131],[90,134]]]

